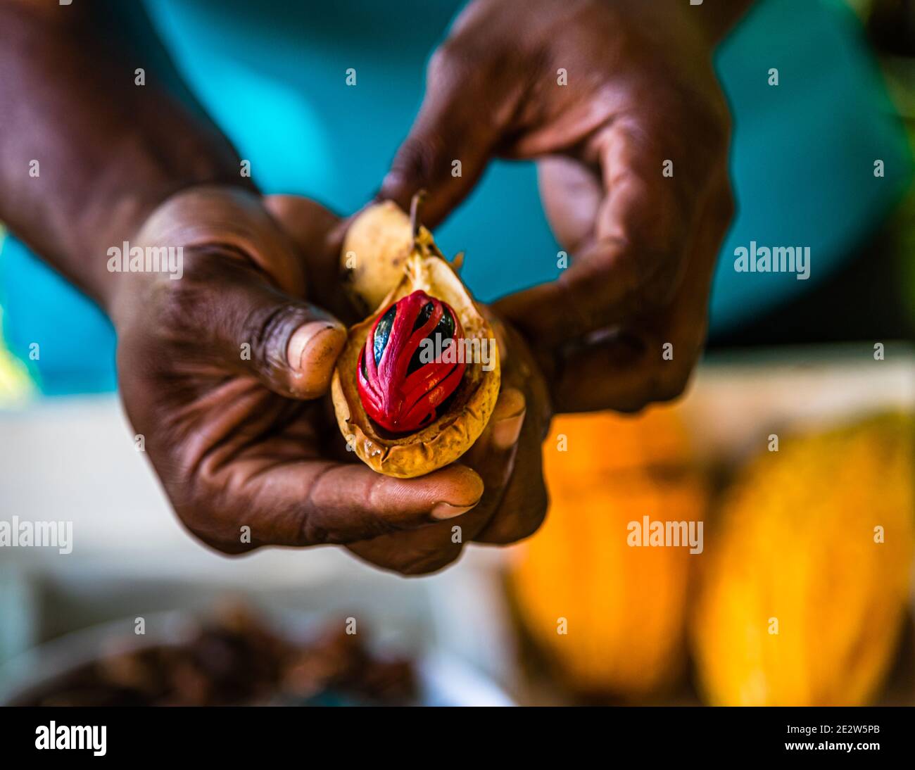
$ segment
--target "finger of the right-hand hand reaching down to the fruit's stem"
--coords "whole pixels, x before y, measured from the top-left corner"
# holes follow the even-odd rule
[[[423,222],[435,227],[467,196],[499,142],[509,111],[499,103],[498,74],[454,44],[436,50],[426,73],[423,104],[394,156],[379,198],[409,210],[425,189]]]

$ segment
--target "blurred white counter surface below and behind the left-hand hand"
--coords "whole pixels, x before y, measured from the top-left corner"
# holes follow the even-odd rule
[[[181,527],[114,396],[0,411],[0,519],[72,522],[73,551],[0,549],[0,660],[121,617],[254,604],[362,618],[399,647],[444,649],[511,679],[501,553],[473,548],[441,574],[380,572],[338,548],[229,558]]]

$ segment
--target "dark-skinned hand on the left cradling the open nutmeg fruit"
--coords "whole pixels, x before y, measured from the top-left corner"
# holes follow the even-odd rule
[[[467,465],[396,479],[346,451],[325,395],[345,330],[321,309],[345,307],[337,230],[305,198],[199,187],[133,239],[183,247],[180,280],[117,275],[112,304],[124,407],[178,517],[227,553],[337,543],[404,573],[445,566],[473,538],[533,531],[548,410],[520,341]]]

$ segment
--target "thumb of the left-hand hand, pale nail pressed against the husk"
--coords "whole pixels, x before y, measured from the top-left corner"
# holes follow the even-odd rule
[[[166,322],[146,330],[177,337],[176,363],[253,374],[290,398],[327,390],[346,331],[305,302],[303,265],[260,198],[221,187],[178,193],[138,240],[183,244],[178,280],[157,294]]]

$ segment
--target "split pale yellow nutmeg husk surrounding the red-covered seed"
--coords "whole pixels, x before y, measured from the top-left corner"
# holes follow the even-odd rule
[[[393,203],[366,209],[353,222],[343,243],[341,261],[350,271],[348,288],[357,304],[374,304],[374,312],[350,328],[337,361],[331,395],[340,432],[360,459],[386,476],[423,476],[454,462],[483,432],[499,397],[499,349],[485,309],[477,305],[458,277],[459,260],[447,262],[432,233],[412,221]],[[409,241],[404,242],[404,232]],[[463,380],[435,422],[415,433],[388,433],[371,421],[359,396],[357,368],[375,320],[394,302],[422,290],[443,300],[458,315],[464,338],[488,346],[490,366],[467,361]],[[381,299],[379,300],[379,297]]]

